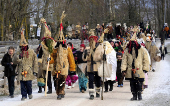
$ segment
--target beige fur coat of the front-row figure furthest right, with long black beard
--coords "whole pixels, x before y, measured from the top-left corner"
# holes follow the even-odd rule
[[[132,78],[132,54],[128,52],[128,48],[125,49],[122,58],[121,72],[126,71],[125,78]],[[136,73],[139,74],[139,78],[145,78],[144,72],[149,70],[149,59],[146,50],[144,48],[138,49],[138,57],[135,60]]]

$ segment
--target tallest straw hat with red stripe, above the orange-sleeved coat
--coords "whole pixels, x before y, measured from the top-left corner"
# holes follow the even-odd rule
[[[60,31],[59,31],[59,34],[56,39],[57,42],[63,42],[65,40],[64,34],[63,34],[63,25],[62,25],[62,21],[66,16],[66,14],[64,14],[64,13],[65,13],[65,11],[63,11],[61,18],[60,18]]]

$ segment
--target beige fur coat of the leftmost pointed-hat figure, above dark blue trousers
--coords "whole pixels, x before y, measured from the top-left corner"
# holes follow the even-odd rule
[[[18,81],[33,80],[34,79],[33,72],[38,73],[37,55],[33,49],[28,49],[27,51],[28,51],[28,57],[26,56],[26,54],[24,54],[23,58],[19,59],[19,55],[22,53],[22,51],[18,51],[12,58],[13,63],[18,65],[18,68],[17,68],[17,72],[18,72],[17,80]],[[27,74],[22,75],[23,71],[26,71]]]

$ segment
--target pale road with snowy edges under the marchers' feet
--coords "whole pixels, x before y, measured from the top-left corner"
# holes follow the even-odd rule
[[[156,42],[160,46],[160,42]],[[170,40],[166,41],[168,51],[170,51]],[[57,100],[57,95],[53,88],[53,93],[44,96],[33,91],[33,99],[21,101],[21,95],[15,98],[7,98],[0,101],[0,106],[170,106],[170,54],[166,55],[165,60],[157,63],[156,71],[149,72],[149,88],[143,92],[142,101],[130,101],[132,94],[130,84],[124,82],[123,88],[117,88],[114,84],[112,92],[104,93],[104,100],[95,98],[89,100],[88,91],[80,93],[78,85],[72,89],[66,89],[65,98]]]

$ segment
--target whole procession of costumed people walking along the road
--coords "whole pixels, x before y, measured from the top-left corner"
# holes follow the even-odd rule
[[[102,24],[101,27],[98,24],[96,29],[88,32],[88,36],[84,36],[88,38],[89,45],[82,42],[77,50],[71,42],[66,43],[62,26],[64,17],[63,13],[60,33],[55,40],[51,37],[46,20],[41,19],[45,33],[37,54],[29,48],[23,34],[24,30],[21,31],[20,50],[14,53],[14,48],[9,47],[8,53],[1,61],[5,66],[5,76],[8,77],[9,96],[14,97],[16,75],[21,85],[22,101],[27,99],[27,96],[29,99],[33,98],[34,76],[37,77],[38,93],[43,92],[42,88],[47,90],[48,86],[47,94],[52,93],[53,77],[58,100],[65,97],[65,85],[68,86],[67,89],[71,89],[77,80],[80,92],[84,93],[88,88],[89,99],[93,100],[94,95],[97,98],[101,96],[101,86],[104,86],[104,92],[113,91],[114,83],[118,84],[117,87],[123,87],[125,77],[125,80],[130,81],[133,95],[131,100],[142,100],[142,91],[148,87],[147,72],[155,72],[156,62],[164,59],[167,54],[162,38],[160,48],[156,46],[154,31],[151,31],[149,24],[146,24],[145,28],[143,23],[134,27],[124,24],[121,28],[118,23],[115,27],[115,39],[111,23],[107,26]],[[79,28],[81,29],[80,26]],[[85,31],[87,26],[84,25],[83,28]],[[161,55],[158,55],[159,51]]]

